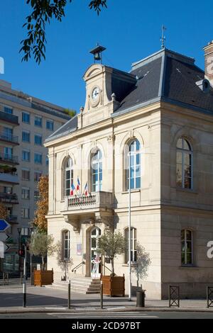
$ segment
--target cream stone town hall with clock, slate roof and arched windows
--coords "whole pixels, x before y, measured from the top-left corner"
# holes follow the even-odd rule
[[[194,59],[165,48],[133,63],[130,72],[102,64],[85,72],[84,108],[45,140],[48,232],[62,241],[64,259],[80,264],[69,278],[91,276],[104,230],[113,227],[129,238],[131,150],[131,260],[136,242],[151,256],[148,276],[139,281],[147,296],[166,298],[170,283],[179,284],[183,297],[204,296],[213,282],[207,257],[213,240],[213,43],[204,52],[205,72]],[[116,274],[126,276],[126,293],[128,260],[125,253],[115,262]],[[110,266],[102,262],[107,273]],[[48,266],[59,281],[55,256]]]

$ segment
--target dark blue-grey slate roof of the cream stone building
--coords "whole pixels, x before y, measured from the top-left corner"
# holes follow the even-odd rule
[[[114,72],[119,73],[116,69]],[[121,82],[114,83],[115,89],[120,86],[121,91],[120,94],[116,91],[120,106],[111,115],[113,118],[155,101],[175,103],[213,115],[213,94],[204,93],[197,86],[196,82],[204,79],[204,71],[195,65],[193,58],[163,49],[133,63],[129,77],[132,78],[129,86],[126,82],[123,87]],[[74,130],[77,130],[77,116],[50,135],[46,141]]]

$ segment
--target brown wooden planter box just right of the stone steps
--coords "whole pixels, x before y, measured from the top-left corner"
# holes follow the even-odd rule
[[[101,276],[103,281],[103,294],[109,296],[125,296],[124,276]]]

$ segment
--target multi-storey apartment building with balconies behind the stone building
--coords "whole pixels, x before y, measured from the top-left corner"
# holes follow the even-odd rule
[[[19,269],[20,237],[29,235],[38,181],[48,174],[48,149],[43,141],[69,119],[64,108],[16,91],[0,80],[0,201],[6,205],[11,225],[1,270]],[[18,234],[19,228],[22,232]]]

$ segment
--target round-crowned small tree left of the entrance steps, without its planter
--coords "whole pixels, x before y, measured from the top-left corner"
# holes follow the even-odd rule
[[[42,269],[44,269],[45,256],[51,256],[56,251],[53,236],[36,230],[31,236],[30,251],[35,256],[41,256]]]

